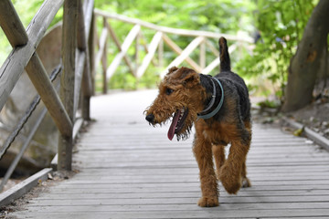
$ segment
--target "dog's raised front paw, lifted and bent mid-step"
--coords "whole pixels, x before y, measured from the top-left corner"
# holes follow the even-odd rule
[[[241,176],[229,165],[223,165],[219,172],[219,178],[228,193],[238,193],[242,186]]]

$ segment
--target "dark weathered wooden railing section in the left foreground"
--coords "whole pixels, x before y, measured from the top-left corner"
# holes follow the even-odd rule
[[[62,5],[64,8],[62,63],[58,68],[58,71],[61,71],[58,95],[56,87],[51,83],[37,55],[36,48]],[[0,68],[0,110],[3,109],[25,69],[60,133],[58,170],[71,170],[73,128],[77,124],[75,115],[80,101],[83,102],[81,109],[83,120],[90,120],[90,97],[93,93],[91,83],[93,58],[90,58],[93,51],[93,40],[90,37],[93,36],[90,35],[93,33],[93,5],[93,0],[83,2],[81,0],[46,0],[26,30],[11,1],[0,1],[0,25],[13,47]],[[39,120],[42,120],[45,114],[46,110],[43,110],[39,115]],[[27,119],[23,117],[21,121],[24,120]],[[16,132],[12,133],[1,146],[0,158],[14,141],[17,132],[22,129],[21,125],[17,124]],[[36,129],[36,127],[32,129],[32,136]],[[21,156],[23,152],[21,151],[18,156]],[[19,157],[17,160],[19,161]]]

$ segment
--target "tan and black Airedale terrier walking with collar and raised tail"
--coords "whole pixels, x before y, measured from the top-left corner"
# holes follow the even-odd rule
[[[168,138],[196,134],[193,151],[200,170],[202,197],[198,205],[218,206],[218,180],[228,193],[249,187],[246,157],[251,141],[249,92],[245,82],[230,70],[227,40],[219,39],[220,73],[211,77],[190,68],[170,68],[159,85],[154,103],[145,110],[152,125],[172,118]],[[174,116],[173,116],[174,115]],[[231,144],[228,159],[224,147]],[[213,155],[216,163],[214,171]]]

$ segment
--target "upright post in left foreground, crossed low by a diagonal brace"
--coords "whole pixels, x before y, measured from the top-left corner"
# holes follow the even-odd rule
[[[77,47],[78,27],[78,0],[65,0],[63,14],[62,34],[62,60],[63,72],[60,78],[60,98],[74,123],[74,83],[75,83],[75,57]],[[60,134],[58,141],[58,170],[72,169],[72,135]]]

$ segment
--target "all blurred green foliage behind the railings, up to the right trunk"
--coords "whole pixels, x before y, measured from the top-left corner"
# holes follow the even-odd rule
[[[24,26],[28,26],[42,0],[13,0],[17,14]],[[96,0],[95,7],[108,13],[139,18],[159,26],[170,26],[190,30],[207,30],[217,33],[236,35],[238,31],[248,33],[255,39],[252,54],[246,51],[232,57],[232,68],[247,79],[250,92],[254,95],[273,95],[281,99],[287,82],[287,68],[302,38],[302,32],[318,0]],[[62,10],[52,22],[60,21]],[[97,21],[101,33],[102,21]],[[111,20],[121,42],[132,28],[131,25]],[[100,35],[99,33],[99,35]],[[143,31],[147,42],[154,32]],[[170,36],[179,47],[186,47],[192,40],[186,36]],[[216,42],[214,41],[214,44]],[[216,45],[215,45],[216,46]],[[132,46],[133,47],[133,46]],[[0,63],[11,51],[6,37],[0,30]],[[108,50],[108,63],[117,52]],[[133,56],[133,48],[128,54]],[[175,53],[164,47],[164,67],[174,58]],[[195,57],[194,57],[195,56]],[[192,58],[197,60],[196,55]],[[207,56],[208,57],[208,56]],[[143,57],[140,57],[143,58]],[[208,57],[207,63],[213,57]],[[97,69],[96,89],[101,91],[101,68]],[[122,65],[109,81],[110,89],[154,88],[159,80],[160,70],[153,65],[147,69],[138,81],[131,74],[126,74],[127,67]],[[212,74],[215,74],[213,72]]]

